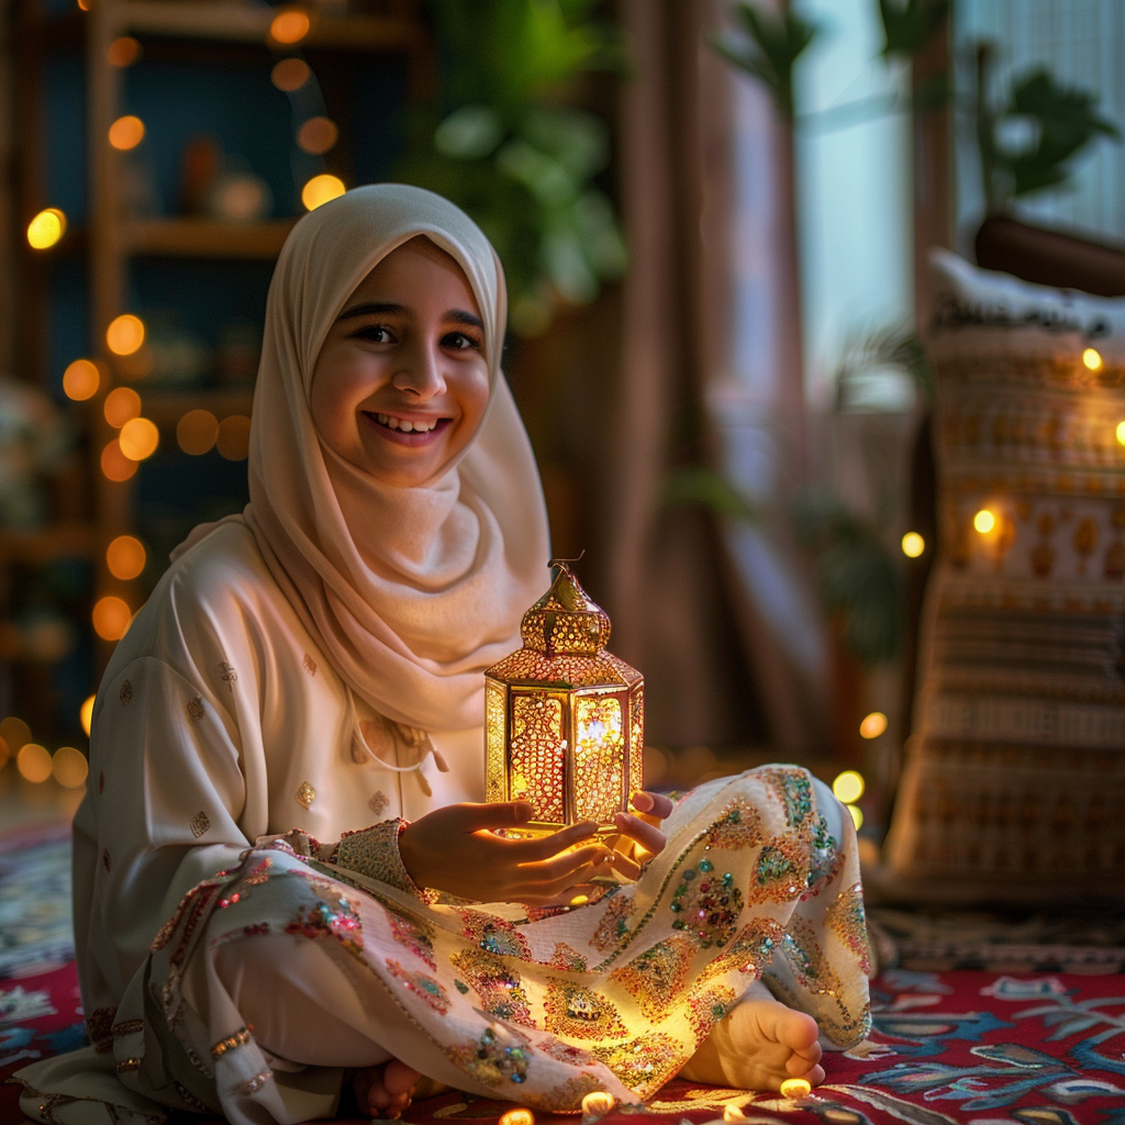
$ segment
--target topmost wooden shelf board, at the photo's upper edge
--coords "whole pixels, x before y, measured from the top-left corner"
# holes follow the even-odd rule
[[[122,32],[141,35],[181,36],[192,39],[227,39],[266,43],[278,9],[238,2],[198,0],[132,0],[115,4],[112,14]],[[377,16],[313,16],[304,47],[345,51],[408,51],[417,44],[417,25],[410,19]],[[297,44],[294,44],[297,46]]]

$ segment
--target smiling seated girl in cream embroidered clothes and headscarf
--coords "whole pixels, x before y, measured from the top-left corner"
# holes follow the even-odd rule
[[[20,1072],[35,1119],[388,1116],[423,1076],[574,1110],[677,1072],[816,1084],[820,1040],[865,1034],[855,835],[804,771],[637,793],[629,857],[479,803],[482,673],[549,558],[505,322],[495,253],[430,192],[358,189],[289,237],[250,504],[176,552],[98,693],[91,1045]]]

